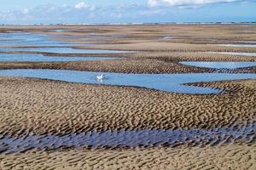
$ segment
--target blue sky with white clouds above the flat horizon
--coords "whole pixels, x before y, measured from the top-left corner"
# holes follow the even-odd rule
[[[256,0],[0,0],[0,23],[256,21]]]

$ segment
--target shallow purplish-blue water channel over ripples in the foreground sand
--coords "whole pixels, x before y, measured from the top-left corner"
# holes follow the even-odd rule
[[[255,123],[233,127],[212,129],[192,128],[189,130],[130,130],[130,131],[90,131],[71,133],[62,136],[42,135],[14,138],[6,136],[0,139],[0,152],[15,153],[26,150],[53,150],[61,147],[76,149],[91,146],[98,147],[137,147],[137,146],[173,146],[175,144],[218,145],[232,142],[253,142]]]

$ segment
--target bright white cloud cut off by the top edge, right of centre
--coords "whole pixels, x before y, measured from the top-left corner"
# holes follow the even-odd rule
[[[196,6],[207,3],[233,3],[241,0],[148,0],[150,7],[167,5],[167,6]]]

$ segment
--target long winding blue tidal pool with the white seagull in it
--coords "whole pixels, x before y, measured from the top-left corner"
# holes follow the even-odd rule
[[[256,78],[256,74],[191,73],[191,74],[125,74],[92,71],[17,69],[0,71],[0,76],[36,77],[65,82],[98,83],[96,76],[105,75],[103,84],[154,88],[183,94],[218,94],[219,89],[186,86],[188,82],[212,82]]]

